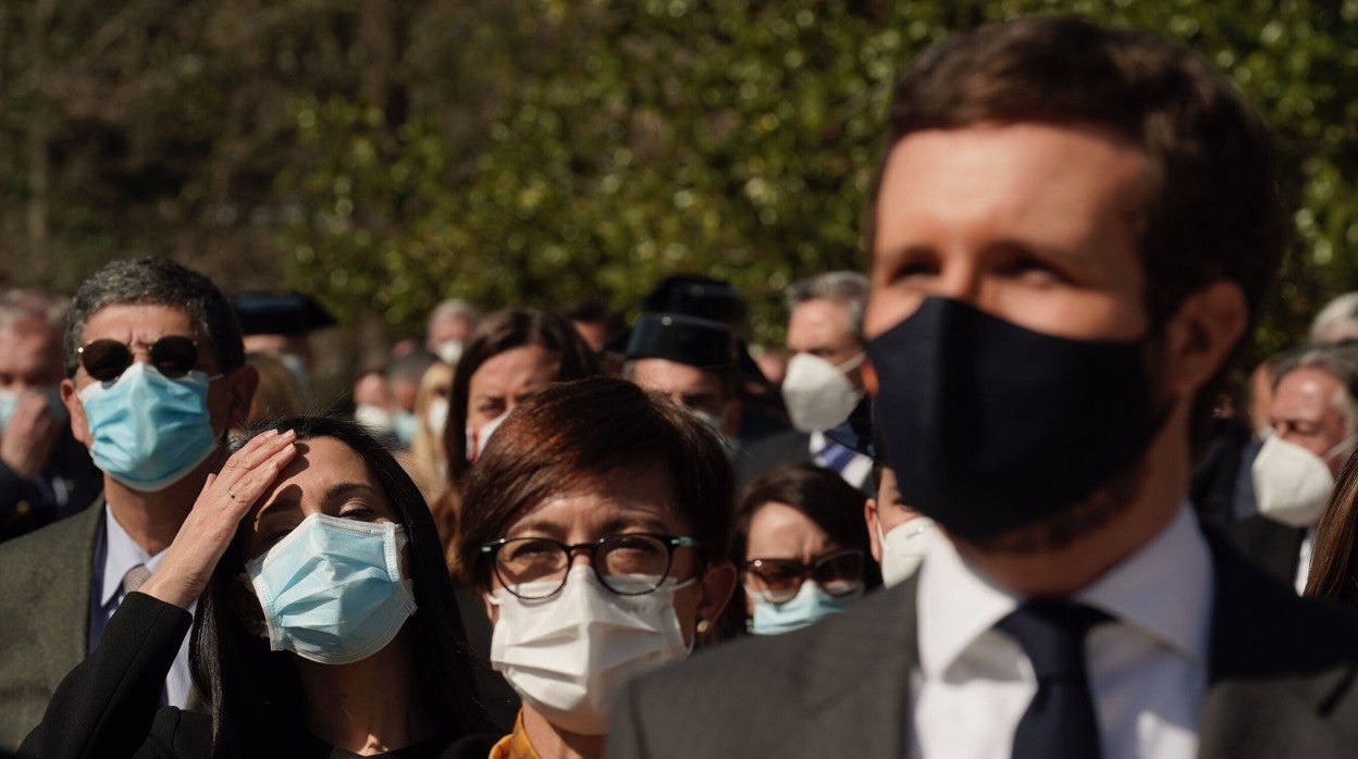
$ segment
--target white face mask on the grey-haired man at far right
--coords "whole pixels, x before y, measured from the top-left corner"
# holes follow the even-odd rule
[[[1277,434],[1264,440],[1249,466],[1259,513],[1289,527],[1310,527],[1320,519],[1335,489],[1329,459],[1351,447],[1348,437],[1324,456],[1289,443]]]

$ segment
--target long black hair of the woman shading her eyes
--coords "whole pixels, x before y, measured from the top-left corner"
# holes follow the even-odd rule
[[[462,732],[489,732],[473,684],[466,633],[458,615],[443,547],[418,487],[390,452],[361,426],[333,417],[288,417],[246,430],[231,441],[238,451],[268,429],[295,430],[297,440],[331,437],[359,453],[368,474],[386,493],[409,536],[406,546],[417,611],[406,622],[414,652],[417,698],[436,724]],[[212,714],[215,758],[282,754],[268,737],[295,733],[306,725],[303,691],[292,654],[270,652],[236,611],[246,557],[238,532],[217,563],[194,615],[191,654],[194,683]]]

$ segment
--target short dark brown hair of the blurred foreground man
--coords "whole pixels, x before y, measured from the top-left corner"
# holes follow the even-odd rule
[[[1149,158],[1139,250],[1153,330],[1217,280],[1240,285],[1253,326],[1289,223],[1268,133],[1224,76],[1181,45],[1078,18],[987,26],[925,53],[896,84],[885,153],[914,132],[1033,122],[1122,138]],[[869,250],[880,185],[881,168]]]

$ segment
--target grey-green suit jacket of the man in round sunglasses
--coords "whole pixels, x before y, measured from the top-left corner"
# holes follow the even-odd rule
[[[57,684],[86,657],[94,550],[103,498],[0,544],[0,749],[42,720]]]

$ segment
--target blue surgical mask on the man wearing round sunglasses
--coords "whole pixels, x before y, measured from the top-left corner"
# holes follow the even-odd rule
[[[208,414],[212,377],[189,372],[168,379],[136,361],[115,380],[80,391],[90,424],[90,456],[105,474],[133,490],[175,483],[217,447]]]

